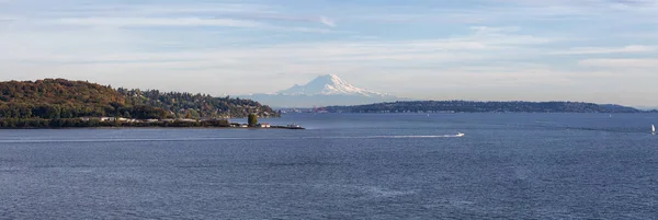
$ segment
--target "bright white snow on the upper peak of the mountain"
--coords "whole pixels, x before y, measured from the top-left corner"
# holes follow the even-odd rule
[[[358,95],[358,96],[384,96],[382,93],[372,92],[356,88],[336,74],[320,76],[305,85],[295,85],[291,89],[280,91],[282,95]]]

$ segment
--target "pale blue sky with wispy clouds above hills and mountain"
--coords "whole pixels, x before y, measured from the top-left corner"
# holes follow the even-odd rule
[[[658,0],[0,0],[0,80],[658,106]]]

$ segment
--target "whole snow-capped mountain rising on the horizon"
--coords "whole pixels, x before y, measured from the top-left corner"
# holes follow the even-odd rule
[[[356,88],[336,74],[320,76],[304,85],[295,84],[273,94],[238,96],[274,107],[361,105],[401,100],[393,95]]]

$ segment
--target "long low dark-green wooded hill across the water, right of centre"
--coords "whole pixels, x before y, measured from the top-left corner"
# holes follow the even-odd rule
[[[417,101],[378,103],[356,106],[331,106],[332,113],[640,113],[620,105],[598,105],[577,102],[468,102],[468,101]]]

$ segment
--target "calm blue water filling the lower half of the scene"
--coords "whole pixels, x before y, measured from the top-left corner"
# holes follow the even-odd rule
[[[0,130],[0,219],[658,219],[658,115],[264,120]]]

